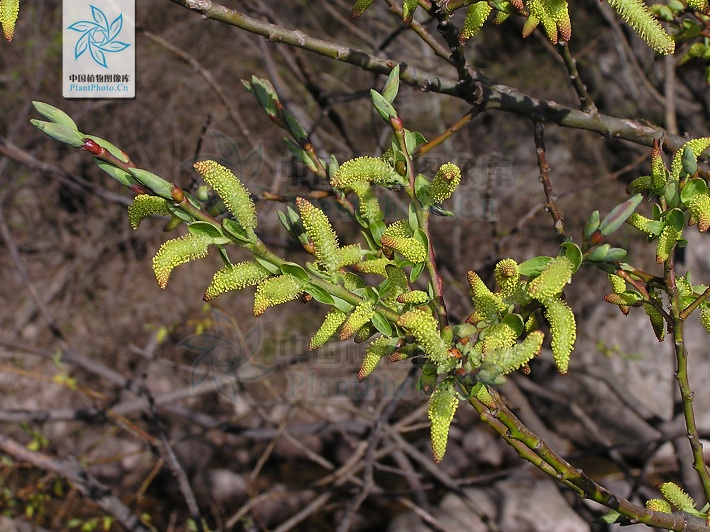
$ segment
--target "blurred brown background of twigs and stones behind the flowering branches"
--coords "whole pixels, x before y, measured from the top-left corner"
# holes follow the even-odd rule
[[[411,366],[383,363],[358,384],[361,346],[335,342],[308,352],[326,310],[315,301],[261,318],[252,315],[249,289],[204,304],[220,266],[214,253],[177,268],[166,290],[157,286],[151,258],[175,233],[164,234],[157,218],[133,231],[130,191],[88,154],[32,127],[29,120],[40,118],[32,100],[60,107],[81,131],[180,186],[196,179],[195,160],[212,158],[257,197],[295,198],[327,186],[289,156],[283,132],[241,80],[269,79],[318,152],[341,162],[381,154],[389,132],[369,102],[383,77],[267,43],[168,1],[137,4],[134,100],[62,98],[61,2],[23,0],[14,40],[0,43],[0,431],[53,460],[80,464],[157,530],[197,529],[195,507],[218,530],[603,529],[592,523],[599,507],[541,478],[465,405],[444,461],[434,465],[427,397],[415,389]],[[223,4],[456,75],[386,2],[355,21],[341,0]],[[596,0],[575,2],[571,15],[570,50],[600,112],[708,135],[703,65],[655,58]],[[422,22],[439,39],[435,25]],[[523,40],[521,27],[510,20],[484,28],[468,45],[471,65],[576,108],[555,47],[539,31]],[[396,105],[406,127],[427,138],[468,111],[465,102],[407,86]],[[471,309],[468,270],[490,280],[501,258],[557,254],[532,132],[524,117],[488,111],[420,161],[428,175],[447,161],[463,169],[448,204],[456,216],[434,223],[453,320]],[[558,207],[578,242],[591,211],[604,215],[627,197],[629,181],[649,173],[646,146],[554,124],[546,143]],[[389,220],[406,213],[394,193],[383,205]],[[342,242],[359,241],[334,204],[322,207],[334,213]],[[258,201],[259,229],[278,254],[299,261],[306,255],[275,212],[285,208]],[[707,238],[688,233],[683,259],[694,282],[707,283]],[[629,262],[658,270],[655,245],[626,229],[614,239],[633,247]],[[546,350],[530,376],[513,376],[502,393],[546,442],[621,496],[656,496],[664,480],[698,494],[678,462],[689,449],[674,407],[671,346],[656,341],[644,313],[624,317],[603,303],[608,291],[601,272],[576,274],[566,290],[581,324],[570,373],[557,375]],[[707,338],[696,319],[689,329],[691,384],[707,435]],[[101,529],[104,515],[61,476],[0,456],[0,528]]]

